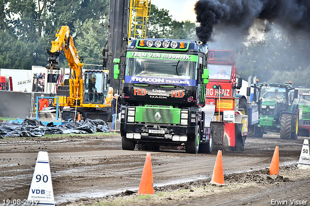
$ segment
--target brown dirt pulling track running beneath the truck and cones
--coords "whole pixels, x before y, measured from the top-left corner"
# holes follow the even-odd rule
[[[157,195],[147,200],[124,194],[138,190],[146,151],[123,151],[118,134],[0,139],[0,197],[1,201],[27,199],[37,153],[44,150],[57,204],[85,205],[100,199],[141,206],[272,205],[272,200],[291,205],[293,199],[310,200],[310,170],[296,168],[304,138],[280,140],[279,135],[269,134],[263,139],[248,138],[245,152],[223,152],[224,187],[208,184],[217,151],[192,155],[161,147],[160,152],[151,152]],[[276,146],[282,165],[279,177],[269,176],[265,169]]]

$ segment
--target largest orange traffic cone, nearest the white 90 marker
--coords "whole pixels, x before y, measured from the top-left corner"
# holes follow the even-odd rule
[[[138,194],[154,194],[151,153],[146,153]]]

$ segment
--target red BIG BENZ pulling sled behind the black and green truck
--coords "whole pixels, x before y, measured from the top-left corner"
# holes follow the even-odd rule
[[[242,78],[237,76],[234,53],[233,50],[209,50],[209,84],[206,85],[205,98],[206,106],[213,114],[210,123],[213,144],[225,151],[244,151],[248,134],[248,103],[244,95],[236,93],[236,89],[242,87]],[[255,105],[250,104],[250,108]],[[255,114],[255,109],[252,111],[250,116]]]

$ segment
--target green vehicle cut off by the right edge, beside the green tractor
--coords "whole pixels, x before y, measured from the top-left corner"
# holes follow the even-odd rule
[[[295,103],[299,106],[299,132],[300,136],[309,137],[310,134],[310,88],[298,87],[298,96]]]

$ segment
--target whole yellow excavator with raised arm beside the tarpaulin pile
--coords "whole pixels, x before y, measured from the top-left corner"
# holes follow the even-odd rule
[[[51,49],[47,49],[49,57],[46,68],[48,70],[61,69],[59,66],[60,54],[65,55],[70,67],[69,79],[64,80],[57,87],[55,95],[59,97],[62,119],[77,118],[77,114],[80,114],[81,119],[100,118],[110,121],[113,88],[109,87],[109,70],[89,69],[83,71],[83,58],[78,56],[69,32],[68,26],[62,26],[56,33],[56,40],[52,41]]]

